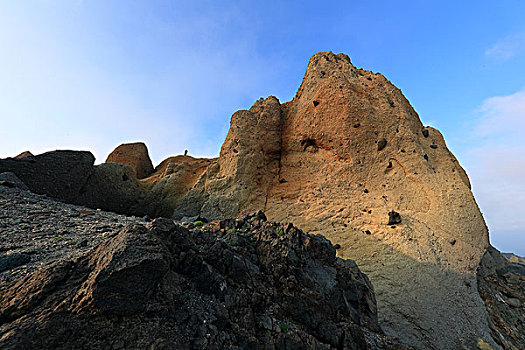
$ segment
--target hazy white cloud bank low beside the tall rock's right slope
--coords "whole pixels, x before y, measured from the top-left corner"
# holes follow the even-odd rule
[[[473,143],[462,159],[493,242],[523,254],[515,245],[525,247],[525,89],[488,98],[476,113]]]

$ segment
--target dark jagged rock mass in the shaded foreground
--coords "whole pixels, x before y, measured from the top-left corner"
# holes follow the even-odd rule
[[[22,198],[12,207],[15,194]],[[0,191],[5,205],[37,227],[48,220],[38,206],[74,210],[12,189]],[[111,214],[96,215],[114,225]],[[54,261],[46,249],[28,273],[0,279],[0,347],[406,349],[382,334],[367,277],[320,235],[261,213],[194,230],[169,219],[130,222],[103,237],[86,229],[91,217],[61,223],[82,220],[98,246],[70,245],[77,255]],[[7,234],[34,244],[17,230]]]

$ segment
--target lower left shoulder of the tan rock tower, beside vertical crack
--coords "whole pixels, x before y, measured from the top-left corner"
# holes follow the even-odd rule
[[[281,129],[281,106],[273,96],[236,112],[219,159],[182,199],[175,217],[226,218],[264,208],[269,187],[279,178]]]

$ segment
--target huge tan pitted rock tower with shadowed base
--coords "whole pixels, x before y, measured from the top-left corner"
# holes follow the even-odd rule
[[[497,348],[476,289],[488,231],[468,177],[381,74],[318,53],[292,101],[235,113],[175,216],[245,209],[340,244],[370,276],[387,334],[425,349]],[[388,225],[392,211],[401,222]]]

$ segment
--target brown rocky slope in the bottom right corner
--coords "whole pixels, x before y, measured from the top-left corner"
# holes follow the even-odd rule
[[[525,264],[514,257],[490,247],[477,273],[492,337],[503,349],[525,349]]]

